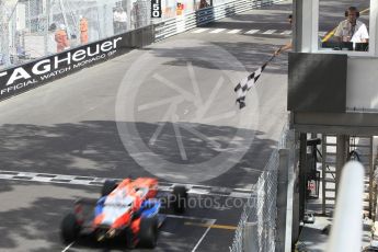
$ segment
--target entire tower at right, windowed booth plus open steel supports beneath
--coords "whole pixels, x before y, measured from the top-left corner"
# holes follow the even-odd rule
[[[311,172],[319,174],[320,179],[313,180],[321,181],[323,192],[322,207],[316,214],[332,217],[342,169],[352,159],[365,167],[367,203],[360,216],[373,218],[376,211],[373,182],[377,165],[374,136],[378,135],[377,16],[375,0],[344,0],[335,4],[327,0],[294,1],[294,50],[289,55],[287,93],[290,128],[300,148],[296,157],[299,169],[295,188],[299,190],[295,193],[298,215],[293,218],[294,226],[300,226],[307,206],[311,205],[312,199],[307,196],[308,182],[313,179]],[[353,26],[353,18],[359,27],[366,26],[368,38],[356,35],[362,33],[359,28],[337,32],[340,24]],[[324,30],[328,33],[321,37]],[[309,153],[308,142],[313,138],[321,144],[317,144],[318,152]],[[321,162],[321,169],[313,165],[317,162]]]

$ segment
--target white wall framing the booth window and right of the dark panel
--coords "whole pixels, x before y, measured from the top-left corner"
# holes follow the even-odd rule
[[[319,50],[319,0],[295,0],[294,45],[298,53],[347,54],[346,108],[378,111],[378,1],[370,1],[369,53]],[[329,88],[332,89],[332,85]]]

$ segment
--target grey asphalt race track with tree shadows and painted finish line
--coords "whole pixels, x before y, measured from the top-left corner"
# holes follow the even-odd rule
[[[288,1],[205,28],[287,31],[289,13]],[[88,181],[125,176],[192,186],[193,207],[167,219],[156,251],[228,251],[240,203],[286,123],[287,55],[267,67],[242,112],[232,89],[289,35],[193,32],[0,104],[1,251],[124,251],[85,239],[65,245],[59,225],[76,198],[99,195]]]

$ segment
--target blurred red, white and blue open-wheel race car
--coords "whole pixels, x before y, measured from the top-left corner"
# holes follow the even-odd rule
[[[167,206],[162,207],[162,198]],[[96,241],[121,238],[128,249],[136,245],[153,249],[158,229],[165,216],[162,210],[171,207],[182,214],[185,210],[187,190],[174,186],[170,194],[158,191],[158,180],[125,179],[117,183],[105,181],[99,199],[81,198],[75,203],[75,213],[61,221],[61,237],[66,243],[81,234],[94,234]]]

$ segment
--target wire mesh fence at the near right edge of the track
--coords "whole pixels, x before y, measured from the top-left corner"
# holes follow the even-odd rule
[[[285,126],[277,148],[244,205],[231,252],[274,252],[276,247],[278,150],[286,148],[288,129]]]

